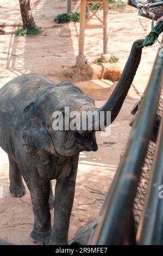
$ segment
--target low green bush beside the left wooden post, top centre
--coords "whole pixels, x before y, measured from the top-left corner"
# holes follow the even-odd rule
[[[57,23],[69,23],[71,21],[77,22],[80,20],[80,13],[75,11],[74,13],[62,13],[58,14],[58,16],[54,19]]]

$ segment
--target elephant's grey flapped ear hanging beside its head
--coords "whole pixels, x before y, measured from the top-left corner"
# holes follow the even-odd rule
[[[33,102],[24,109],[24,120],[26,125],[22,131],[23,145],[30,145],[54,154],[55,148],[51,135],[49,135],[41,119],[36,115],[36,108]]]

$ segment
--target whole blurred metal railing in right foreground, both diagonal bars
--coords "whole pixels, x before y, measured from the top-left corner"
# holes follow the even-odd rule
[[[152,136],[162,84],[163,57],[159,56],[158,52],[140,111],[128,139],[126,153],[120,161],[106,195],[89,245],[163,244],[163,199],[158,197],[158,186],[163,185],[162,122],[152,181],[148,186],[147,205],[139,225],[137,239],[133,217],[134,197],[148,142]]]

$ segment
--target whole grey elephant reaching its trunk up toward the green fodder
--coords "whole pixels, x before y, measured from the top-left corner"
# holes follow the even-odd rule
[[[0,146],[9,157],[10,192],[23,196],[27,184],[32,199],[34,227],[30,237],[38,245],[67,245],[78,159],[81,151],[96,151],[96,131],[54,130],[53,112],[111,112],[111,123],[120,112],[133,82],[142,53],[142,40],[134,42],[122,76],[104,106],[97,108],[91,97],[72,83],[55,84],[37,74],[14,78],[0,90]],[[54,224],[49,211],[50,181],[57,180]]]

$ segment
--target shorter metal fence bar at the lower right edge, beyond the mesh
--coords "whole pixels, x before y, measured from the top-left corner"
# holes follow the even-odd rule
[[[158,143],[147,192],[147,204],[137,231],[140,245],[163,245],[163,119],[161,119]],[[161,187],[160,187],[161,186]]]

